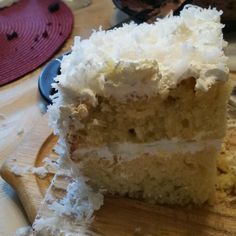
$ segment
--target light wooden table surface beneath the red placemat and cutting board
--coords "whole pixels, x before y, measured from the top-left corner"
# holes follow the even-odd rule
[[[98,29],[100,25],[104,29],[109,28],[126,17],[115,10],[111,0],[92,0],[90,6],[73,10],[73,13],[73,32],[58,55],[70,49],[75,35],[86,38],[92,29]],[[20,145],[46,110],[38,92],[38,76],[43,66],[16,82],[0,87],[0,165]],[[18,227],[27,224],[17,196],[0,179],[0,235],[14,235]]]

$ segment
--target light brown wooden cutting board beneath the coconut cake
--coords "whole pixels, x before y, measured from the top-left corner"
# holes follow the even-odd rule
[[[234,111],[233,111],[234,113]],[[47,125],[47,116],[39,120],[19,148],[1,168],[2,177],[16,190],[31,223],[50,185],[53,174],[44,179],[27,173],[16,176],[12,166],[38,167],[52,156],[57,141]],[[236,151],[236,126],[228,129],[227,149]],[[63,193],[58,193],[63,194]],[[234,195],[214,206],[170,207],[147,204],[121,197],[105,197],[96,212],[92,228],[102,235],[236,235]]]

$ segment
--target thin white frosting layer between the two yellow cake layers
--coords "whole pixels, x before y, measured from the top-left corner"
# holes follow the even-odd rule
[[[102,147],[89,147],[78,148],[73,155],[88,157],[101,157],[109,160],[113,160],[114,156],[118,158],[118,161],[130,161],[138,158],[144,154],[156,155],[158,153],[190,153],[202,151],[208,148],[215,148],[220,150],[221,140],[207,140],[207,141],[180,141],[178,139],[172,140],[159,140],[152,143],[113,143],[104,145]]]

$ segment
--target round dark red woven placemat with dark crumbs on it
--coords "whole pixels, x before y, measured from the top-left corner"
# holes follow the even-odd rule
[[[69,37],[71,10],[61,1],[20,0],[0,10],[0,85],[47,61]]]

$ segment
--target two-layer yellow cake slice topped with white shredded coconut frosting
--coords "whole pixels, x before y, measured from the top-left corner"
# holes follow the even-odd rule
[[[50,122],[94,188],[168,204],[215,190],[230,93],[216,9],[75,39]]]

